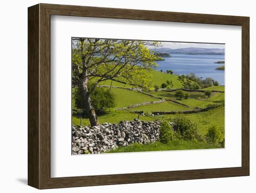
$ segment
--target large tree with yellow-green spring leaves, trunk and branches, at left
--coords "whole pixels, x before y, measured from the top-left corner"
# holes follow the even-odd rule
[[[82,100],[92,126],[98,125],[91,93],[97,85],[113,78],[123,79],[143,89],[152,88],[148,71],[157,67],[158,56],[148,45],[158,42],[118,39],[72,39],[72,84],[81,90]],[[88,89],[88,84],[92,88]]]

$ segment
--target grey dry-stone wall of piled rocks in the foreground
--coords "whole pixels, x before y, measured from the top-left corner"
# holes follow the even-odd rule
[[[160,134],[159,121],[121,121],[94,127],[72,126],[72,154],[99,154],[135,142],[156,142]]]

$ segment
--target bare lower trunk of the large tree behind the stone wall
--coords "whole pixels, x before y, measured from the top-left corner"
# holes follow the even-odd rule
[[[97,119],[95,110],[94,110],[93,105],[92,105],[92,100],[91,100],[90,95],[89,95],[88,80],[87,79],[84,80],[83,83],[82,83],[82,96],[83,96],[83,100],[84,100],[84,104],[85,104],[86,113],[87,113],[87,116],[90,120],[91,126],[99,125],[100,123]]]

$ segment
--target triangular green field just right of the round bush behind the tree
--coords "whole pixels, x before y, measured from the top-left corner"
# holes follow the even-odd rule
[[[128,107],[131,104],[160,100],[133,90],[112,88],[111,91],[116,95],[116,105],[114,109]]]

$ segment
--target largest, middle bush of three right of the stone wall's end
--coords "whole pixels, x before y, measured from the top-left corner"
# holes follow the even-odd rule
[[[184,140],[197,139],[197,131],[195,123],[191,122],[184,116],[177,117],[173,120],[173,129],[176,132],[176,136],[180,135],[180,138]]]

